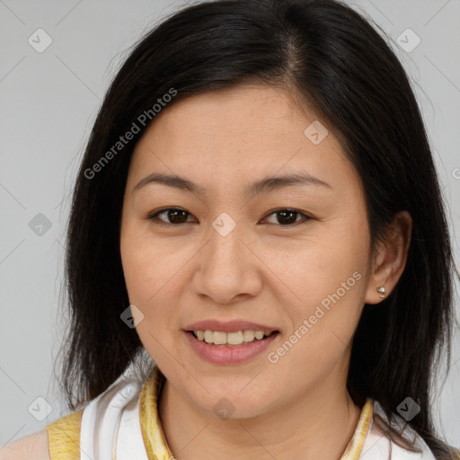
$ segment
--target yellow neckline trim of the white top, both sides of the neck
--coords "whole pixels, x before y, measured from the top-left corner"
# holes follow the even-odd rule
[[[160,369],[155,366],[146,384],[142,388],[139,401],[139,417],[142,430],[142,437],[146,445],[146,452],[149,460],[173,460],[174,456],[169,449],[164,431],[158,415],[158,399],[164,386],[166,377]],[[374,401],[367,398],[358,425],[353,437],[350,439],[341,460],[357,460],[361,454],[367,433],[374,413]]]

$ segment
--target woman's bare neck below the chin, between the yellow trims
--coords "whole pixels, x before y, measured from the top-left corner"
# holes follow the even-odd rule
[[[331,377],[289,405],[240,420],[200,410],[166,381],[158,405],[166,442],[177,460],[340,460],[361,410]]]

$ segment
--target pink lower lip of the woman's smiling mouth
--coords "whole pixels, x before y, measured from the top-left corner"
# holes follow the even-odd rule
[[[269,337],[255,340],[246,345],[237,345],[231,347],[223,347],[221,345],[211,345],[206,341],[199,341],[192,332],[185,332],[191,347],[197,352],[200,358],[214,364],[240,364],[249,361],[251,358],[259,355],[264,349],[274,341],[279,332],[273,332]]]

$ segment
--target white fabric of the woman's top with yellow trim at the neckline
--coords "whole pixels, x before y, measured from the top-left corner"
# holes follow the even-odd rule
[[[159,391],[158,374],[155,367],[151,374],[155,379],[155,395]],[[143,385],[132,379],[118,380],[84,408],[80,431],[81,460],[148,460],[139,417]],[[391,442],[374,423],[373,413],[379,413],[387,421],[381,405],[368,399],[341,460],[436,460],[423,438],[409,426],[404,430],[404,438],[414,439],[422,453],[408,451]],[[156,407],[154,417],[155,432],[152,437],[155,456],[158,460],[173,460],[163,437]],[[399,415],[395,417],[393,426],[401,429],[404,420]]]

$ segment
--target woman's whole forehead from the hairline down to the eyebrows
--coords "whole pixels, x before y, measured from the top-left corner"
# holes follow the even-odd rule
[[[130,174],[141,179],[159,170],[200,183],[296,170],[324,181],[334,175],[356,181],[333,128],[306,105],[299,109],[288,90],[267,85],[241,85],[166,106],[137,143]]]

